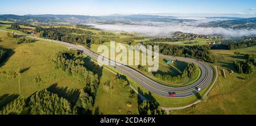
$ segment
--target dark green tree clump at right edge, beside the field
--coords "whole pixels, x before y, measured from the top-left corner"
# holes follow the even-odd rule
[[[238,73],[250,74],[254,72],[256,66],[255,54],[245,54],[246,60],[238,63],[234,61],[233,64]]]

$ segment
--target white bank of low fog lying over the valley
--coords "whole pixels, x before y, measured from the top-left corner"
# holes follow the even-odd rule
[[[225,35],[232,37],[256,35],[256,30],[233,30],[221,27],[196,27],[183,24],[168,24],[165,26],[93,24],[96,28],[110,31],[126,31],[143,33],[147,36],[171,36],[176,31],[196,33],[201,35]]]

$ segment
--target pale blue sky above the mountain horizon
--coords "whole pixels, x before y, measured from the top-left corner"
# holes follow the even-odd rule
[[[255,0],[1,0],[0,14],[139,13],[256,15]]]

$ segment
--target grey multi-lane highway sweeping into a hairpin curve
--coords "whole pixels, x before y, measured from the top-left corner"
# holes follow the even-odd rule
[[[1,31],[3,31],[3,30],[1,30]],[[95,60],[97,60],[98,57],[105,58],[105,57],[100,56],[100,54],[97,54],[96,52],[90,51],[89,49],[82,47],[81,45],[66,43],[64,41],[43,39],[43,38],[39,38],[39,37],[32,37],[32,36],[27,36],[27,37],[31,37],[33,39],[38,39],[38,40],[50,41],[51,43],[61,44],[66,47],[69,47],[69,48],[83,51],[87,56],[89,56]],[[160,96],[164,96],[164,97],[168,97],[168,98],[171,98],[170,94],[175,94],[174,98],[185,98],[188,96],[195,95],[199,92],[197,89],[200,88],[201,89],[200,91],[202,91],[205,88],[207,88],[208,85],[210,85],[211,82],[213,81],[213,78],[214,78],[213,69],[207,63],[205,63],[203,61],[195,60],[192,58],[166,56],[163,54],[159,54],[159,56],[163,57],[163,58],[170,59],[170,60],[179,60],[179,61],[191,62],[191,63],[193,62],[193,63],[197,64],[199,66],[199,68],[201,69],[201,77],[196,82],[194,82],[188,86],[170,87],[170,86],[165,86],[158,82],[155,82],[154,80],[146,77],[145,75],[139,73],[137,70],[130,68],[129,66],[125,66],[125,65],[117,63],[117,65],[110,66],[110,67],[118,70],[118,72],[121,72],[121,73],[127,75],[127,77],[130,77],[135,82],[137,82],[139,85],[141,85],[144,89],[147,89],[151,93],[158,94]],[[106,59],[106,60],[108,62],[114,62],[109,59]]]

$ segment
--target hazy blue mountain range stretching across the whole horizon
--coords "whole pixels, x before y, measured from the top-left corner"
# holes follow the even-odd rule
[[[208,22],[199,24],[199,27],[223,27],[233,29],[256,29],[256,18],[237,18],[237,17],[206,17],[208,19],[223,19],[222,21]],[[225,20],[226,19],[226,20]],[[107,16],[88,16],[88,15],[0,15],[0,20],[13,20],[15,22],[43,22],[43,23],[101,23],[101,24],[143,24],[143,22],[168,22],[183,23],[196,22],[193,19],[179,19],[174,16],[159,16],[146,14],[121,15],[113,14]]]

